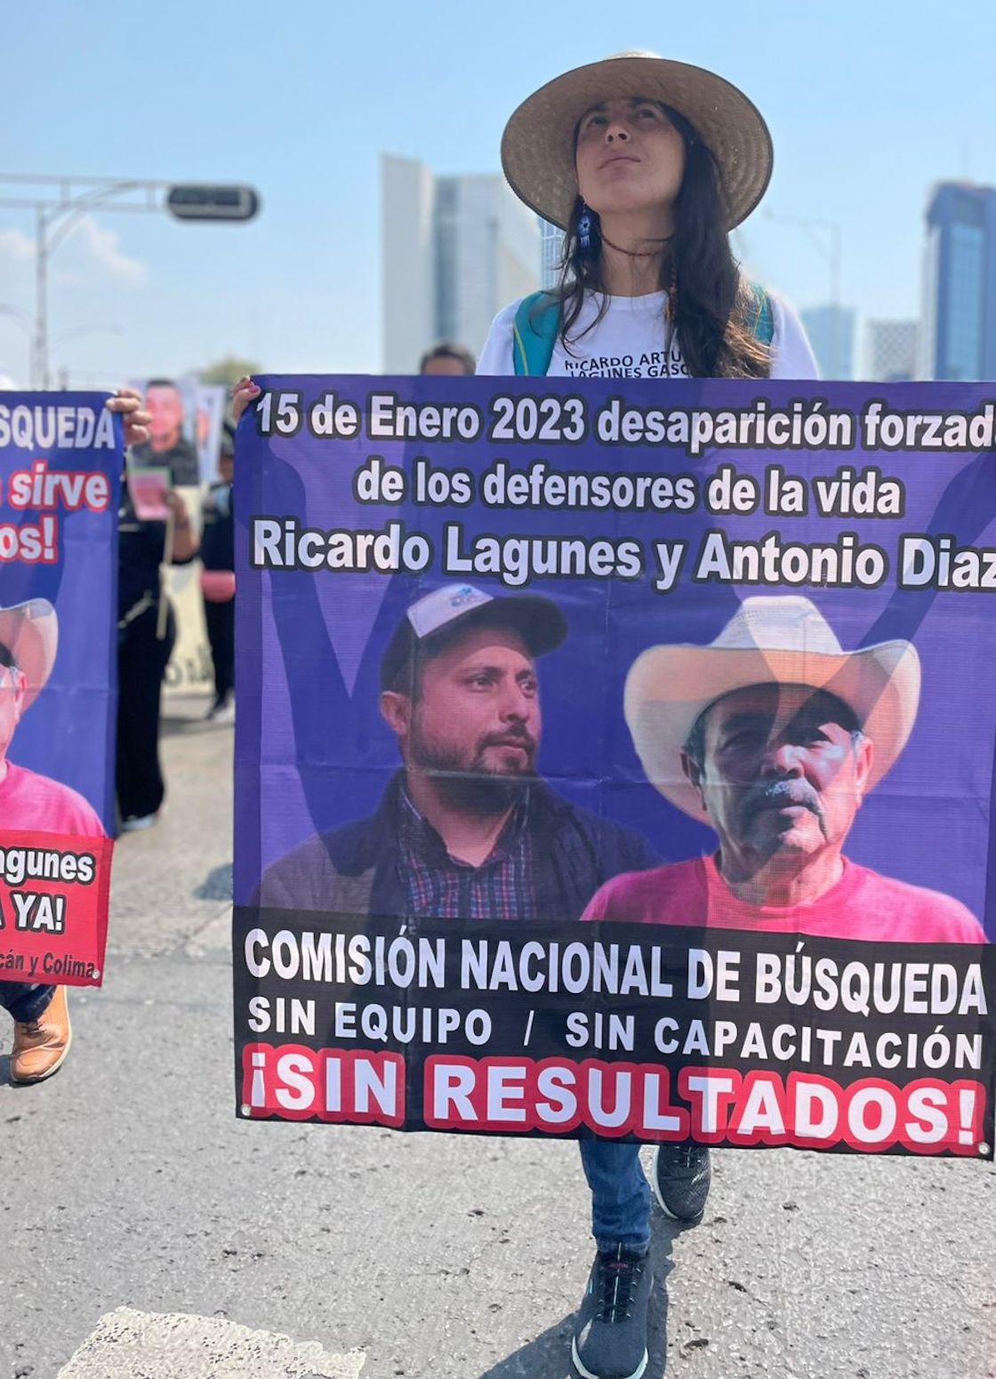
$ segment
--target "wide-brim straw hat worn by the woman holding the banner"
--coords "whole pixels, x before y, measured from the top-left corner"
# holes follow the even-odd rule
[[[574,68],[523,101],[502,135],[502,167],[520,200],[567,229],[578,197],[578,121],[593,105],[617,97],[647,97],[683,114],[719,165],[727,229],[746,219],[764,196],[774,164],[760,110],[715,72],[653,52],[621,52]]]

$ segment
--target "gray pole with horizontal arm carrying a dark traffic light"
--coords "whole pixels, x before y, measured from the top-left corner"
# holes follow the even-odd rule
[[[48,261],[84,215],[109,211],[168,212],[181,221],[251,221],[259,196],[250,186],[171,183],[139,178],[41,177],[0,172],[1,207],[34,211],[34,346],[32,383],[48,387]],[[14,314],[4,312],[3,314]]]

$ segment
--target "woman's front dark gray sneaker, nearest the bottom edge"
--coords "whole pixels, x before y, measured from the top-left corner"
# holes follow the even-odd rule
[[[621,1245],[595,1256],[571,1342],[582,1379],[640,1379],[651,1281],[647,1255]]]

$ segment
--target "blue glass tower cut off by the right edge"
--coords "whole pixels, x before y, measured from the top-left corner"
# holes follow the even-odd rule
[[[996,378],[996,188],[941,182],[927,207],[922,378]]]

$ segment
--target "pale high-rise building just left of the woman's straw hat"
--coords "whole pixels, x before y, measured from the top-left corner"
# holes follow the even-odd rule
[[[479,354],[491,321],[539,287],[541,232],[502,177],[435,177],[381,159],[384,367],[412,374],[440,341]]]

